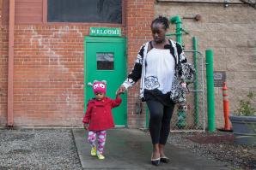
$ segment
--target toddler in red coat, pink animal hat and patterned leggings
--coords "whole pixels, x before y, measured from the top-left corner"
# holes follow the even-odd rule
[[[94,81],[94,98],[88,101],[87,110],[83,117],[83,126],[88,130],[88,143],[91,145],[91,155],[97,155],[100,160],[105,159],[103,149],[106,142],[107,129],[114,127],[112,108],[122,102],[119,93],[116,99],[106,97],[106,81]],[[98,144],[95,144],[95,141]]]

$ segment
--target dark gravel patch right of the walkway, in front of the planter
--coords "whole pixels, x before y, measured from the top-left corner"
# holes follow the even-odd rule
[[[171,132],[168,143],[174,144],[178,148],[189,149],[196,155],[227,162],[231,169],[255,170],[256,147],[234,144],[233,141],[230,141],[230,135],[232,135],[230,133]],[[211,141],[204,140],[207,138],[210,138]]]

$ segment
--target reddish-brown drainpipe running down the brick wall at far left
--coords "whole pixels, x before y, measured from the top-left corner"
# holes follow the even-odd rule
[[[15,0],[9,0],[9,59],[8,59],[8,99],[7,126],[14,126],[14,35],[15,35]]]

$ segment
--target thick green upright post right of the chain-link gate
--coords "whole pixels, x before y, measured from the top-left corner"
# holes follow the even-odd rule
[[[214,104],[214,81],[213,81],[213,50],[206,50],[206,84],[207,84],[207,113],[208,130],[215,132],[215,104]]]

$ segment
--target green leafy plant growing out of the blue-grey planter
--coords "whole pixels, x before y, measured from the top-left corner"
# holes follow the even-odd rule
[[[256,115],[255,98],[256,98],[256,94],[254,94],[252,91],[250,91],[247,94],[247,99],[240,100],[239,108],[237,108],[235,110],[235,114],[236,115],[255,116]]]

